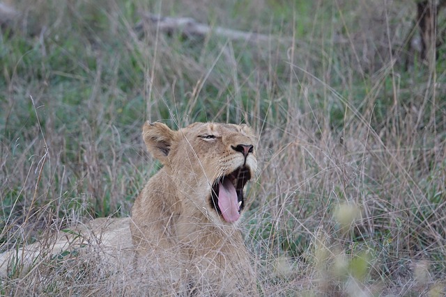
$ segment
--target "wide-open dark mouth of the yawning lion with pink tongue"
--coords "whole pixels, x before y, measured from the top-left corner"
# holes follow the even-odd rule
[[[240,211],[245,207],[243,188],[251,179],[251,173],[246,166],[240,166],[229,175],[215,180],[210,194],[210,207],[223,216],[228,223],[240,218]]]

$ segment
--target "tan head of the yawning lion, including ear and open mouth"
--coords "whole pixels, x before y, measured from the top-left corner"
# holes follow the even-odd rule
[[[146,122],[143,136],[183,203],[224,223],[240,218],[243,189],[257,166],[251,128],[196,122],[173,131],[160,122]]]

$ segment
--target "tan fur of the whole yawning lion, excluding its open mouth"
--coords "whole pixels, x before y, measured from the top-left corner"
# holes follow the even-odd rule
[[[55,255],[99,242],[107,267],[113,271],[136,268],[137,277],[155,284],[151,287],[155,296],[170,295],[172,290],[186,295],[256,295],[251,259],[238,229],[240,220],[226,221],[211,200],[213,185],[220,178],[226,176],[237,191],[243,191],[246,181],[238,186],[236,180],[243,179],[238,168],[245,168],[245,179],[248,171],[254,176],[252,129],[194,123],[173,131],[164,124],[146,122],[143,138],[163,167],[139,193],[131,218],[93,220],[75,228],[77,235],[59,232],[46,253]],[[238,172],[238,179],[233,172]],[[24,268],[31,268],[42,258],[42,249],[35,243],[18,253],[3,253],[0,275],[6,275],[17,256]],[[121,259],[119,267],[116,259]]]

